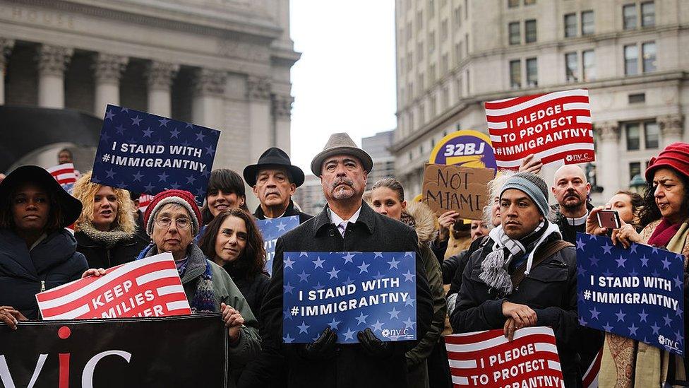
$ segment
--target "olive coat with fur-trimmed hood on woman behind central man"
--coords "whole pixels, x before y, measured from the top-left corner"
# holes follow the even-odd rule
[[[407,364],[409,365],[409,377],[407,382],[410,387],[424,387],[427,377],[426,360],[431,355],[433,348],[438,345],[441,332],[445,327],[447,305],[445,305],[445,290],[443,290],[443,275],[441,266],[429,247],[429,242],[436,231],[436,216],[431,208],[419,202],[410,202],[405,211],[413,222],[406,222],[402,216],[402,222],[414,225],[414,230],[419,237],[419,251],[424,262],[426,276],[428,277],[431,295],[433,296],[433,319],[431,327],[421,341],[411,351],[407,352]],[[417,377],[417,378],[412,378]]]

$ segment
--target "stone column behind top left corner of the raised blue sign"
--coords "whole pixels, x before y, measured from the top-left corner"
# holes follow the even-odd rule
[[[96,82],[93,114],[105,116],[108,104],[119,105],[119,80],[127,67],[129,59],[119,55],[99,53],[94,56],[93,76]]]

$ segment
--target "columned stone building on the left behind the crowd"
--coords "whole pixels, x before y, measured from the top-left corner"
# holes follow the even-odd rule
[[[110,103],[219,129],[215,168],[289,152],[298,59],[289,0],[0,0],[0,105]]]

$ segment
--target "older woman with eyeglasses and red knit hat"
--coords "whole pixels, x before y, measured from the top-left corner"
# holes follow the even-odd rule
[[[213,263],[193,242],[201,213],[190,192],[167,190],[153,197],[144,214],[146,232],[153,243],[139,255],[172,252],[186,298],[193,312],[222,312],[227,327],[232,377],[260,351],[258,322],[221,266]],[[231,387],[235,379],[229,379]]]

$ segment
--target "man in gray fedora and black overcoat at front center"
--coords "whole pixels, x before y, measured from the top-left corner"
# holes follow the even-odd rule
[[[263,354],[241,377],[239,387],[275,382],[275,365],[287,363],[287,387],[406,387],[405,352],[415,341],[383,342],[371,329],[357,333],[359,343],[337,344],[338,333],[318,328],[313,343],[282,343],[284,252],[417,252],[417,338],[431,324],[432,298],[417,235],[407,225],[381,216],[361,197],[373,162],[347,134],[333,134],[311,162],[328,202],[317,216],[277,240],[273,277],[261,316]]]

